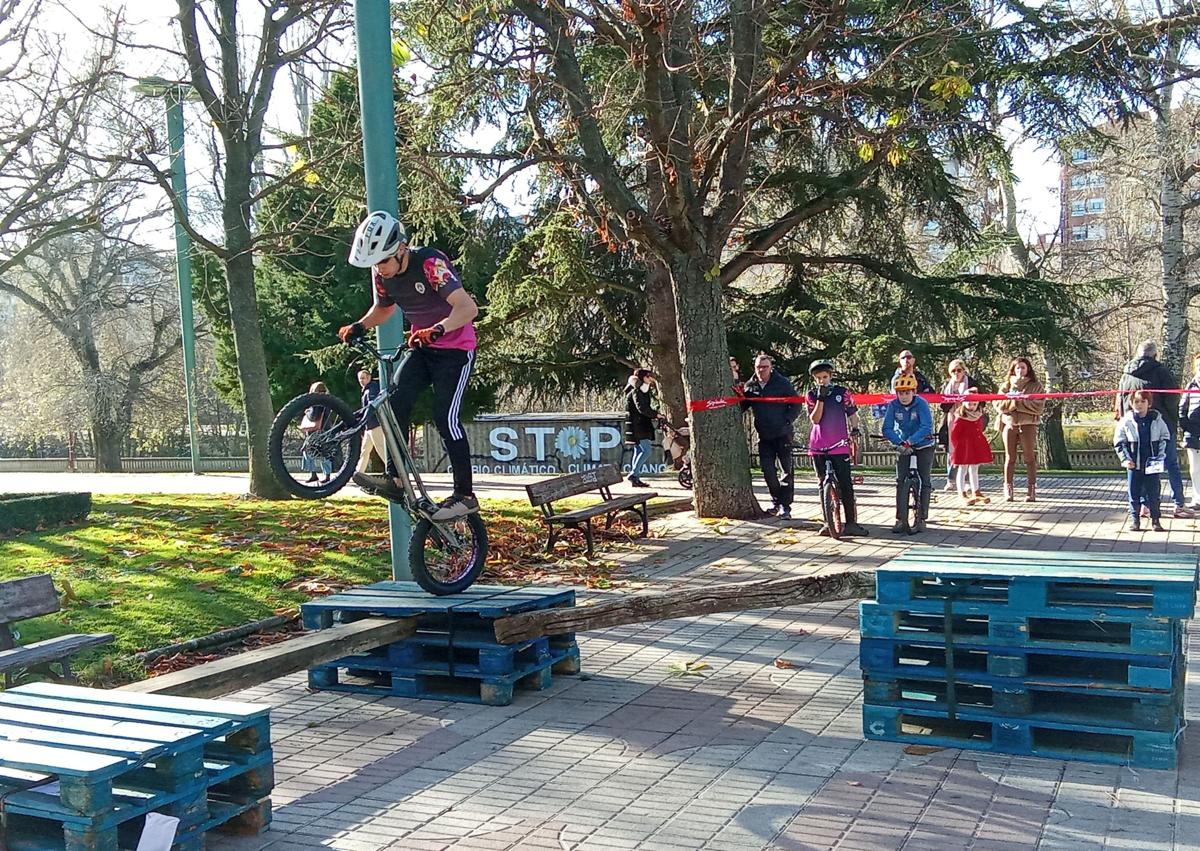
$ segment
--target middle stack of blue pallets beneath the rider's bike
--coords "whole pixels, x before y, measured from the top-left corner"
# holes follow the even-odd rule
[[[307,629],[366,617],[416,618],[409,639],[308,671],[313,689],[427,697],[508,706],[515,688],[548,688],[553,675],[580,672],[574,633],[502,645],[496,621],[522,612],[574,606],[562,588],[472,586],[433,597],[415,582],[376,582],[301,606]]]

